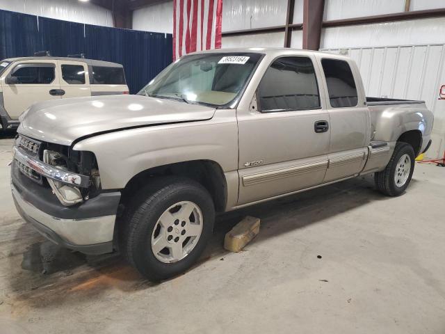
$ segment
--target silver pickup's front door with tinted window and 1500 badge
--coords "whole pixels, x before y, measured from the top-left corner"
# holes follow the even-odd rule
[[[257,89],[257,108],[237,111],[238,205],[321,184],[329,114],[312,56],[275,59]]]

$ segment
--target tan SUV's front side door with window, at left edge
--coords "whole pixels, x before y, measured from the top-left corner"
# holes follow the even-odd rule
[[[3,103],[13,120],[31,104],[61,98],[56,61],[20,61],[1,80]]]

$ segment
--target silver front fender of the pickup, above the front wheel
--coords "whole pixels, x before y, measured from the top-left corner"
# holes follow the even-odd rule
[[[236,170],[236,118],[232,110],[225,114],[202,122],[101,134],[76,143],[73,149],[95,154],[102,189],[123,189],[144,170],[184,161],[211,160],[224,172]]]

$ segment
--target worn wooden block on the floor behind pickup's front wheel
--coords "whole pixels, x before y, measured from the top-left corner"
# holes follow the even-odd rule
[[[225,234],[224,248],[240,252],[259,233],[259,218],[247,216]]]

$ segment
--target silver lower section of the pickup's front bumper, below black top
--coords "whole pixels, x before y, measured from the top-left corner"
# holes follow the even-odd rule
[[[11,184],[11,190],[22,218],[54,243],[87,254],[109,253],[113,250],[115,214],[96,218],[58,218],[24,200],[14,184]]]

